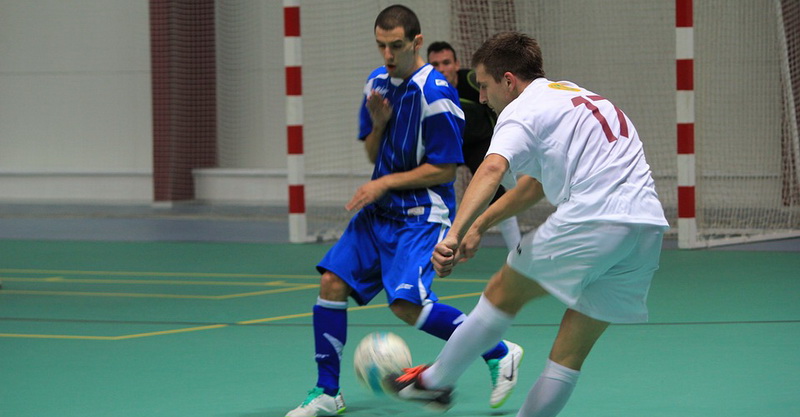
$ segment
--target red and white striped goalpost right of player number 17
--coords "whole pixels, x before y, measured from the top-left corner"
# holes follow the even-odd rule
[[[692,15],[692,0],[675,0],[679,248],[697,246],[694,154],[694,19]]]

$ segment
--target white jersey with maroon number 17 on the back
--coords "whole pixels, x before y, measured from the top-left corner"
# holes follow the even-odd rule
[[[500,113],[488,154],[541,182],[555,220],[668,226],[633,123],[573,83],[534,80]]]

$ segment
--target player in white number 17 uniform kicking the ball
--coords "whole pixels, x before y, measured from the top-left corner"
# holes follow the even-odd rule
[[[448,408],[466,364],[500,340],[527,302],[549,293],[567,309],[518,416],[554,416],[608,325],[648,318],[668,223],[642,142],[608,100],[544,78],[541,57],[537,42],[516,32],[494,36],[473,57],[481,101],[499,118],[486,159],[434,250],[437,273],[450,274],[474,255],[483,232],[542,197],[557,209],[511,251],[436,362],[395,380],[400,398]],[[487,209],[508,173],[519,176],[517,186]]]

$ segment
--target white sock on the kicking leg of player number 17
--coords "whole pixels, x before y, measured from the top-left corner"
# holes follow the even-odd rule
[[[428,388],[455,385],[469,364],[502,339],[513,319],[481,295],[475,309],[456,328],[433,365],[422,373],[422,383]]]

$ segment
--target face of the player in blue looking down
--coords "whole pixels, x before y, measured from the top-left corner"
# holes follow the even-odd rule
[[[417,53],[422,45],[422,35],[417,35],[410,41],[406,39],[402,27],[391,30],[376,27],[375,41],[390,77],[406,79],[417,69]]]

